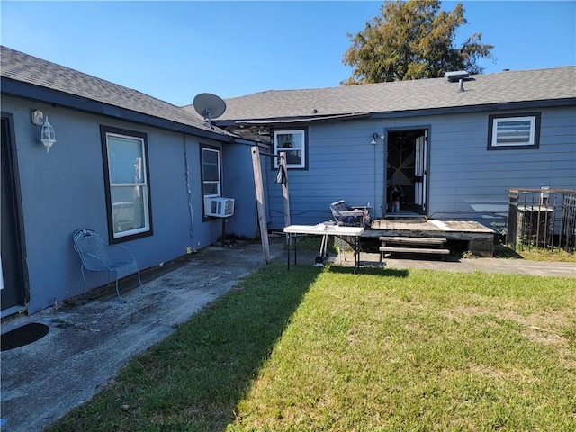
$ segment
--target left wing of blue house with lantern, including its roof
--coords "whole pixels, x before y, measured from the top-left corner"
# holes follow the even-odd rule
[[[254,238],[250,146],[180,107],[2,47],[2,316],[83,293],[76,229],[127,247],[146,269]],[[193,94],[191,94],[191,100]],[[45,148],[49,121],[56,142]],[[204,198],[235,200],[227,219]],[[106,284],[92,273],[88,288]]]

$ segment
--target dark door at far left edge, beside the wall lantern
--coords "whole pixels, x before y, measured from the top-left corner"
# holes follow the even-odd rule
[[[24,306],[24,277],[23,255],[20,243],[20,206],[16,188],[16,164],[13,151],[13,136],[11,134],[11,120],[2,117],[2,130],[0,138],[2,148],[0,152],[0,188],[2,198],[0,202],[0,215],[2,228],[0,229],[1,254],[0,262],[0,294],[2,311]]]

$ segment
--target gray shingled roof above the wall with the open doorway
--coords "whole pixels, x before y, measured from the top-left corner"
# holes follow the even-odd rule
[[[576,104],[576,67],[504,71],[470,76],[464,91],[446,78],[308,90],[266,91],[226,99],[218,124],[231,121],[317,120],[369,114],[416,115],[423,112],[466,112],[479,107],[516,103],[545,106]],[[193,112],[192,106],[186,106]]]

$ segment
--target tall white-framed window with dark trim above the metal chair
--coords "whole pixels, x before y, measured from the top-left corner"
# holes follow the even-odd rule
[[[111,243],[152,234],[147,137],[101,127]]]

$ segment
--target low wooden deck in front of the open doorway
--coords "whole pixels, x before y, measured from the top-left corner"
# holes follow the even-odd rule
[[[480,257],[494,255],[496,231],[474,220],[373,220],[362,237],[401,236],[413,238],[446,238],[464,240],[468,250]]]

